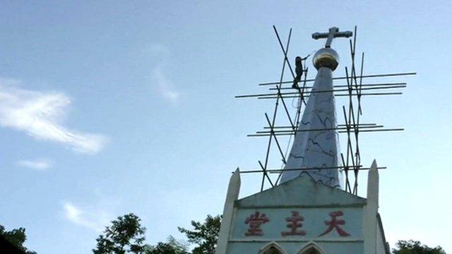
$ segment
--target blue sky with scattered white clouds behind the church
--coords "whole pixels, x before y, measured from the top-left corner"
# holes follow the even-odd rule
[[[0,224],[49,254],[91,253],[129,212],[148,243],[183,238],[177,226],[222,212],[231,171],[265,156],[267,140],[246,134],[273,102],[234,95],[279,80],[272,25],[284,41],[293,28],[290,59],[323,46],[311,33],[357,25],[364,74],[417,72],[385,79],[406,81],[403,96],[362,102],[363,122],[405,128],[360,138],[362,164],[388,167],[386,238],[452,253],[450,13],[448,1],[1,1]],[[335,76],[347,47],[333,41]],[[240,197],[260,181],[243,175]]]

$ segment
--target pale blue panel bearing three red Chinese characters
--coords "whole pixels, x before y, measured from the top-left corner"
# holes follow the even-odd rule
[[[359,238],[362,211],[354,208],[240,210],[235,238]]]

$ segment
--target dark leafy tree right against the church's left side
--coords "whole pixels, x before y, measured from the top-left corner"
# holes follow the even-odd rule
[[[204,223],[191,221],[194,230],[177,227],[179,231],[186,235],[189,243],[196,243],[193,254],[214,254],[217,246],[218,233],[220,232],[221,216],[212,217],[207,215]]]

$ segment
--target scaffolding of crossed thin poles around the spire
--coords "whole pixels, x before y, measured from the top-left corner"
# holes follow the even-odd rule
[[[362,116],[362,97],[367,96],[388,96],[388,95],[402,95],[400,89],[407,86],[407,83],[363,83],[363,80],[367,78],[386,78],[386,77],[399,77],[399,76],[409,76],[416,75],[416,73],[384,73],[384,74],[373,74],[373,75],[363,75],[364,70],[364,52],[361,54],[359,74],[357,74],[357,67],[355,65],[355,55],[356,55],[356,41],[357,41],[357,27],[353,33],[350,42],[350,57],[351,57],[351,67],[345,67],[345,75],[340,77],[334,77],[333,80],[346,80],[346,85],[333,85],[333,90],[317,90],[311,91],[312,83],[314,79],[307,79],[307,73],[309,68],[304,70],[304,79],[299,80],[296,83],[295,89],[292,87],[295,80],[295,73],[290,65],[290,61],[287,58],[290,38],[292,36],[292,28],[289,31],[287,37],[287,42],[285,47],[281,41],[278,30],[273,25],[273,30],[278,39],[280,49],[283,52],[283,67],[280,73],[280,80],[278,82],[271,83],[260,83],[260,87],[269,87],[270,92],[252,94],[252,95],[237,95],[236,98],[257,98],[257,99],[274,99],[275,106],[273,109],[273,114],[268,116],[264,114],[266,118],[266,123],[268,126],[264,126],[263,130],[256,131],[256,133],[249,134],[249,137],[268,137],[268,145],[266,148],[266,155],[263,162],[258,160],[258,165],[260,169],[250,169],[240,171],[241,174],[262,174],[261,179],[261,191],[263,191],[264,183],[266,180],[270,183],[270,186],[275,186],[280,180],[283,171],[299,171],[299,170],[319,170],[319,169],[338,169],[343,171],[345,174],[345,191],[357,195],[358,191],[358,174],[359,171],[369,170],[369,167],[364,167],[361,164],[361,155],[359,150],[359,133],[373,133],[373,132],[386,132],[386,131],[403,131],[403,128],[384,128],[383,125],[377,123],[361,123],[360,118]],[[286,66],[290,70],[290,75],[292,75],[292,80],[283,80]],[[306,65],[305,65],[306,66]],[[301,83],[301,85],[298,85]],[[288,85],[287,85],[288,84]],[[287,91],[287,92],[286,92]],[[364,92],[363,92],[364,91]],[[303,129],[299,130],[300,115],[303,111],[303,105],[307,104],[307,99],[309,95],[314,92],[333,92],[335,97],[345,97],[348,99],[347,107],[343,106],[343,123],[340,123],[336,128],[323,128],[323,129]],[[295,107],[295,112],[291,112],[290,107],[287,105],[287,99],[297,99],[297,106]],[[281,107],[282,106],[282,107]],[[285,125],[278,125],[276,119],[278,116],[278,110],[283,108],[283,115],[285,116]],[[322,167],[322,168],[297,168],[297,169],[283,169],[286,164],[287,150],[290,147],[291,140],[299,132],[304,131],[331,131],[335,130],[338,133],[343,133],[346,135],[346,151],[340,152],[340,162],[341,166],[338,167]],[[280,136],[289,136],[290,139],[287,143],[287,148],[284,151],[281,147],[281,141],[278,140]],[[268,167],[270,148],[272,145],[276,145],[278,148],[278,154],[281,157],[282,165],[280,169],[270,169]],[[378,169],[386,169],[386,167],[378,167]],[[272,181],[269,174],[279,174],[278,179]]]

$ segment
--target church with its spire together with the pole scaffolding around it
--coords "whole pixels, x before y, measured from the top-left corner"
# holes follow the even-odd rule
[[[350,37],[352,32],[339,32],[338,28],[330,28],[326,33],[315,33],[314,39],[325,38],[325,47],[319,49],[313,57],[317,69],[315,80],[304,75],[301,58],[297,57],[295,73],[287,59],[290,35],[284,48],[280,36],[275,30],[280,47],[283,49],[284,64],[280,81],[261,83],[259,85],[275,85],[269,90],[276,91],[257,95],[240,95],[238,97],[258,97],[258,99],[275,99],[273,119],[266,114],[268,127],[249,136],[269,136],[265,161],[259,162],[261,170],[235,171],[227,191],[225,209],[223,211],[218,246],[215,254],[390,254],[386,243],[381,218],[378,213],[379,173],[376,162],[370,168],[361,165],[358,147],[359,132],[394,131],[400,129],[384,129],[376,123],[360,123],[362,95],[390,95],[389,92],[366,92],[362,90],[388,89],[400,87],[393,83],[362,84],[362,78],[375,78],[390,75],[412,75],[415,73],[394,73],[363,75],[362,54],[359,78],[355,66],[355,38],[350,40],[352,66],[350,72],[345,67],[345,77],[332,78],[338,67],[339,56],[331,49],[334,37]],[[283,81],[285,66],[289,67],[292,80]],[[350,73],[350,75],[349,75]],[[297,75],[295,75],[297,74]],[[347,80],[347,85],[333,85],[334,80]],[[359,81],[358,81],[359,80]],[[307,82],[314,81],[311,87]],[[302,82],[302,86],[298,83]],[[284,85],[283,85],[284,84]],[[311,84],[311,83],[310,83]],[[390,84],[390,85],[389,85]],[[364,86],[364,88],[362,88]],[[347,89],[336,89],[347,87]],[[403,87],[405,87],[403,85]],[[293,89],[297,89],[294,92]],[[335,89],[333,89],[335,88]],[[289,90],[290,92],[286,92]],[[333,94],[333,90],[335,90]],[[283,91],[283,92],[282,92]],[[346,93],[341,93],[346,91]],[[307,101],[305,100],[308,97]],[[335,115],[335,96],[346,96],[348,111],[344,109],[344,124],[338,126]],[[292,118],[287,110],[286,98],[297,98],[297,114]],[[358,103],[353,107],[353,100]],[[303,114],[302,105],[306,102]],[[283,107],[287,114],[285,125],[275,122],[278,107]],[[356,111],[354,110],[356,109]],[[301,123],[299,122],[299,118]],[[290,125],[287,125],[287,120]],[[347,133],[347,153],[339,154],[338,132]],[[352,143],[350,134],[355,134]],[[281,149],[281,135],[295,135],[290,155]],[[271,169],[268,157],[272,143],[278,148],[285,164],[284,169]],[[338,162],[340,155],[340,162]],[[384,167],[380,167],[382,169]],[[345,190],[340,189],[340,170],[345,173]],[[357,195],[357,174],[359,170],[368,171],[367,199]],[[271,174],[283,172],[278,178],[279,185]],[[254,195],[239,198],[240,176],[246,173],[262,173],[261,191]],[[350,186],[350,174],[355,184]],[[263,189],[268,180],[271,188]],[[314,181],[312,181],[314,179]],[[320,182],[320,183],[319,183]],[[339,187],[339,188],[338,188]]]

